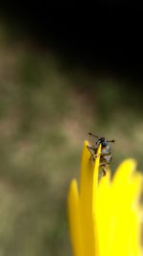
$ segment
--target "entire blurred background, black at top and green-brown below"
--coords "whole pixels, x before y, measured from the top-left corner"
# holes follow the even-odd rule
[[[0,254],[72,255],[67,193],[88,132],[112,173],[143,166],[142,10],[34,3],[0,10]]]

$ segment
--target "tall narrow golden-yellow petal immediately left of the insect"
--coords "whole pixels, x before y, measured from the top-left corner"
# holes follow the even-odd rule
[[[83,232],[83,256],[95,256],[94,222],[92,216],[92,193],[94,163],[90,161],[91,153],[87,149],[88,142],[84,142],[80,170],[80,217]]]

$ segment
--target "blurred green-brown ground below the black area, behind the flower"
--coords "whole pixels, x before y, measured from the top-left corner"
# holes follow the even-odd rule
[[[67,193],[89,131],[115,140],[112,172],[127,157],[143,170],[138,83],[71,63],[1,22],[0,255],[72,255]]]

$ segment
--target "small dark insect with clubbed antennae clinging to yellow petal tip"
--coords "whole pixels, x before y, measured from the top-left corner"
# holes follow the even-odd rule
[[[97,149],[99,144],[101,144],[101,153],[100,153],[100,164],[99,168],[101,169],[101,172],[99,173],[99,176],[106,175],[106,166],[110,165],[112,161],[112,152],[109,142],[114,142],[114,140],[106,140],[105,137],[99,138],[98,136],[92,134],[89,132],[89,135],[92,135],[93,137],[97,138],[97,141],[95,142],[94,146],[87,146],[88,150],[91,152],[91,160],[95,160],[95,158],[98,156]]]

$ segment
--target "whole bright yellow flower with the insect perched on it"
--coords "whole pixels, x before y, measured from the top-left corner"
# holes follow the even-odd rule
[[[79,187],[72,179],[68,216],[74,256],[140,256],[142,175],[134,159],[124,160],[113,177],[98,181],[100,156],[90,161],[84,142]],[[101,145],[98,153],[101,152]]]

